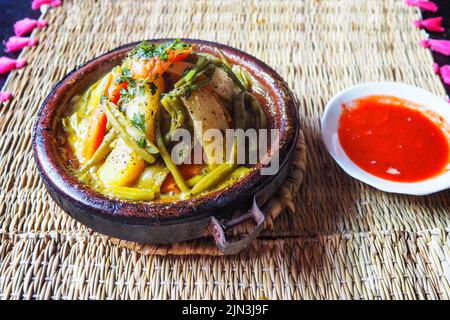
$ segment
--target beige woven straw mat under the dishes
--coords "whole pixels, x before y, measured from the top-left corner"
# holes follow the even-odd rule
[[[401,0],[66,0],[45,15],[29,66],[0,108],[0,297],[4,299],[448,299],[450,194],[383,193],[347,176],[320,139],[326,102],[366,81],[442,97]],[[125,43],[189,37],[275,68],[299,100],[307,170],[293,212],[238,256],[143,255],[90,233],[50,199],[31,153],[34,116],[67,72]],[[161,252],[160,252],[161,253]],[[170,252],[168,252],[170,253]]]

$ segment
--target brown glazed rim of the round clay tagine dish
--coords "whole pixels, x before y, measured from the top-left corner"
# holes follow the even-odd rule
[[[147,41],[161,43],[171,40],[173,39],[164,38]],[[297,102],[286,82],[267,64],[241,50],[215,42],[196,39],[181,40],[195,44],[204,52],[212,52],[216,48],[220,49],[233,63],[238,63],[250,71],[268,92],[270,103],[273,104],[271,110],[274,112],[267,116],[272,117],[274,123],[280,129],[279,171],[281,171],[282,166],[289,160],[299,130]],[[81,183],[69,172],[57,155],[55,125],[60,112],[62,112],[60,107],[64,106],[74,94],[79,93],[79,91],[71,92],[77,82],[82,82],[86,77],[94,77],[94,75],[98,78],[102,73],[99,70],[105,69],[104,66],[109,68],[109,66],[119,63],[121,58],[118,57],[124,56],[138,43],[118,47],[75,68],[56,84],[44,100],[33,127],[33,152],[38,171],[46,187],[52,191],[50,194],[55,192],[63,199],[63,202],[68,201],[72,207],[101,218],[116,221],[132,219],[144,223],[152,221],[159,224],[178,219],[181,216],[196,219],[214,215],[221,212],[221,208],[230,206],[230,204],[233,205],[233,203],[238,204],[243,198],[247,199],[270,183],[274,176],[261,175],[262,164],[258,163],[245,178],[229,187],[210,192],[201,197],[176,202],[131,202],[108,198]],[[62,207],[64,209],[64,205]]]

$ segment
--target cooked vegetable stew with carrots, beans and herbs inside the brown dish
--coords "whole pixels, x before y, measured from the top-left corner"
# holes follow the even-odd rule
[[[219,50],[144,41],[70,100],[59,131],[64,160],[80,181],[116,199],[186,199],[217,190],[251,164],[237,164],[235,140],[226,147],[225,138],[217,143],[205,133],[266,128],[264,101],[257,81]],[[188,144],[176,143],[177,130],[188,134]]]

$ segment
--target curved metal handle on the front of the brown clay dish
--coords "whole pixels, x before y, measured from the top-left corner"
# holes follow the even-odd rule
[[[242,220],[246,220],[248,218],[253,219],[256,224],[255,228],[240,240],[228,241],[225,236],[225,231],[222,224],[215,217],[211,217],[211,222],[208,225],[208,232],[213,236],[214,240],[216,241],[217,247],[223,254],[233,255],[239,253],[243,249],[247,248],[262,231],[264,222],[266,221],[266,216],[259,209],[258,204],[256,203],[256,197],[253,198],[252,208],[249,212],[243,215]],[[228,224],[225,227],[231,226],[232,225]]]

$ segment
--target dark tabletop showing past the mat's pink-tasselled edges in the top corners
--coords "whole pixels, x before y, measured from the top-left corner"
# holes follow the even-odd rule
[[[336,0],[339,1],[339,0]],[[402,1],[402,0],[399,0]],[[37,19],[40,16],[39,10],[31,9],[31,0],[0,0],[0,42],[6,41],[10,36],[14,34],[13,25],[17,20],[23,19],[25,17]],[[435,16],[444,17],[444,27],[447,29],[444,33],[430,33],[430,38],[433,39],[450,39],[450,1],[449,0],[434,0],[434,2],[439,6],[439,11],[437,13],[423,12],[424,18],[430,18]],[[64,5],[64,3],[63,3]],[[411,28],[414,28],[411,21]],[[424,37],[425,38],[425,37]],[[2,45],[3,47],[3,45]],[[0,55],[6,55],[11,58],[17,58],[18,53],[11,54],[5,53],[4,49],[0,49],[2,52]],[[434,60],[439,63],[439,65],[450,64],[450,57],[443,56],[439,53],[432,53]],[[432,66],[430,66],[430,72],[432,71]],[[7,78],[6,75],[0,76],[0,88]],[[450,86],[445,85],[447,94],[450,95]]]

